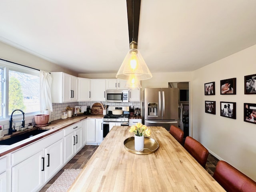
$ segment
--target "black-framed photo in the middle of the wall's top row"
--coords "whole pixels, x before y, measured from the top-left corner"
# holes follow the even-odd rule
[[[224,79],[220,81],[220,94],[236,94],[236,78]]]

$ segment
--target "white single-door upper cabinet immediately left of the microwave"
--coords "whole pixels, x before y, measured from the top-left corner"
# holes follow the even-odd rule
[[[91,79],[91,101],[106,101],[106,79]]]

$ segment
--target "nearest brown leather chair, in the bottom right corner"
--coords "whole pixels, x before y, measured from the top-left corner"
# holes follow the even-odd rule
[[[256,191],[256,182],[225,161],[218,161],[213,178],[228,192]]]

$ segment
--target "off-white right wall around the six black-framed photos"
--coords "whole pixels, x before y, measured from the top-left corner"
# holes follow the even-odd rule
[[[193,72],[193,137],[219,159],[256,180],[256,124],[244,122],[244,76],[256,73],[256,45]],[[220,95],[220,80],[236,78],[236,95]],[[216,95],[204,95],[204,83],[215,82]],[[204,112],[204,101],[216,101],[216,115]],[[236,102],[236,119],[220,116],[220,101]]]

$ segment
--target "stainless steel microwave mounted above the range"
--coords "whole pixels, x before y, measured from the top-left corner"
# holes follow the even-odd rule
[[[128,102],[129,90],[106,90],[106,102]]]

